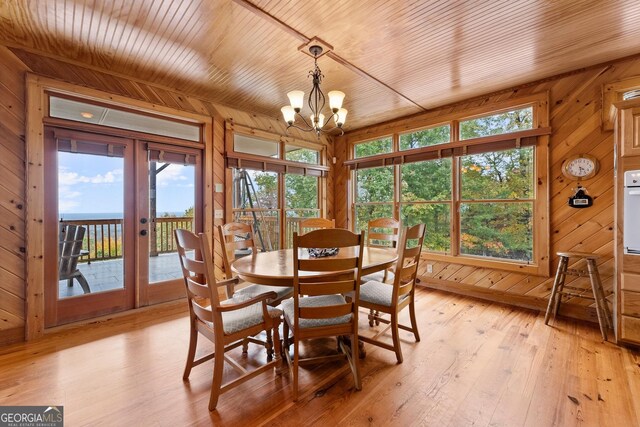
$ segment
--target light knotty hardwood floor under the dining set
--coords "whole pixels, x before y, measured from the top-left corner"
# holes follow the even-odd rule
[[[301,369],[298,403],[288,374],[273,373],[210,413],[213,362],[182,381],[180,301],[0,349],[0,405],[64,405],[69,426],[640,425],[640,352],[603,343],[597,325],[548,327],[536,312],[424,289],[417,309],[422,341],[402,332],[401,365],[366,346],[361,392],[334,362]],[[364,314],[361,324],[368,330]]]

